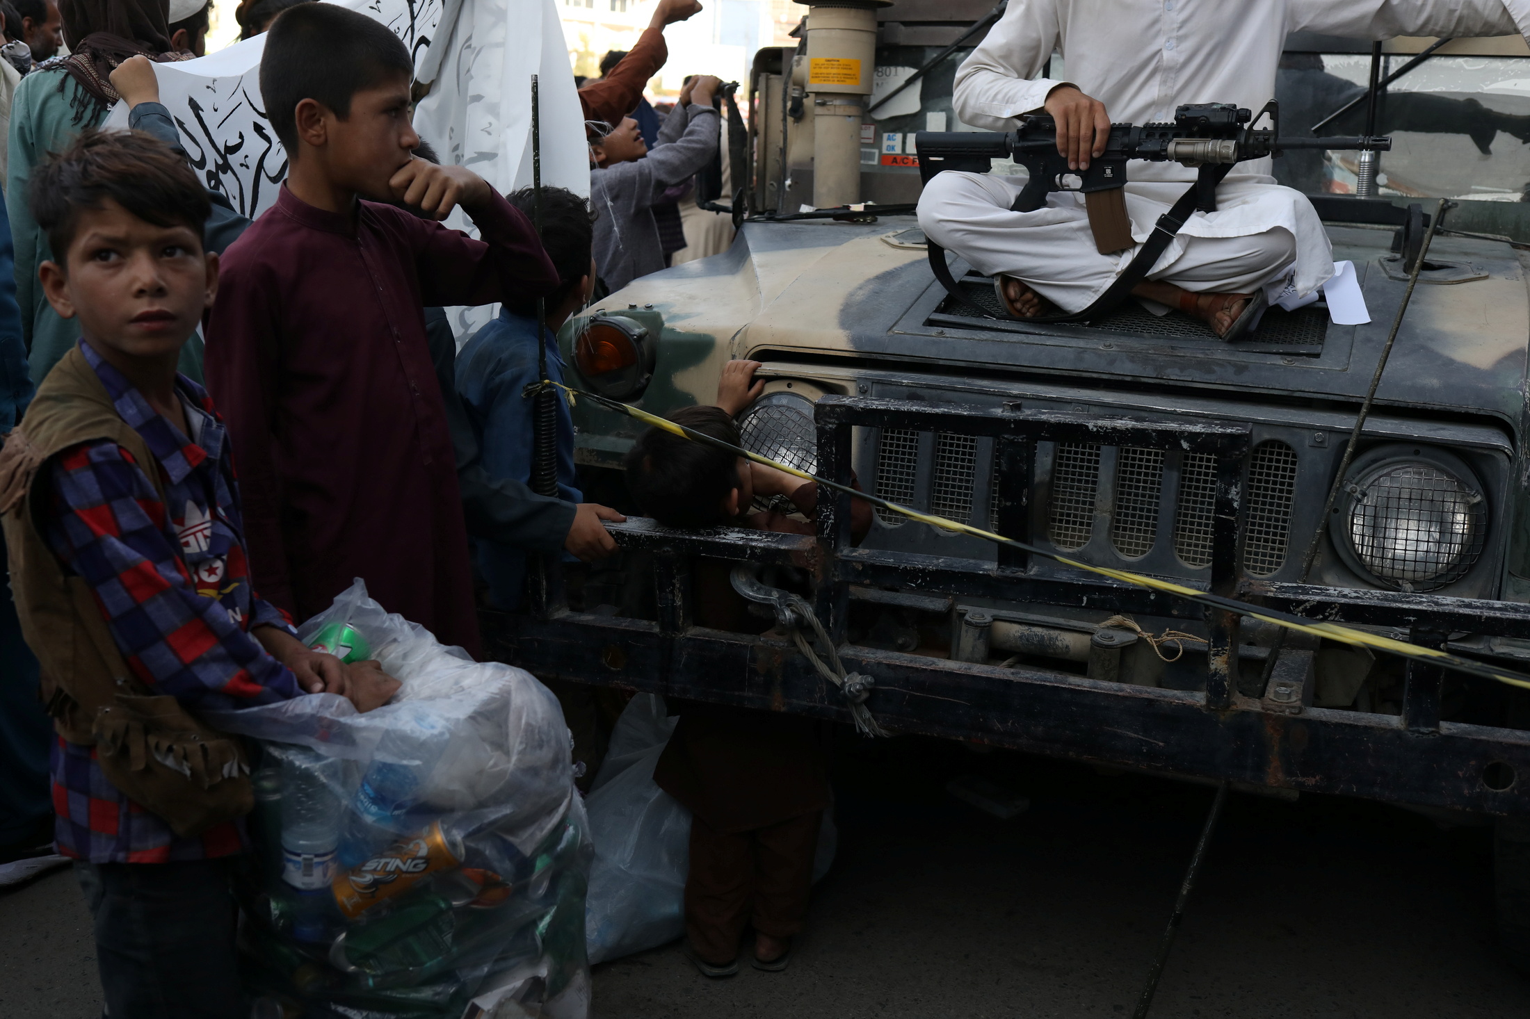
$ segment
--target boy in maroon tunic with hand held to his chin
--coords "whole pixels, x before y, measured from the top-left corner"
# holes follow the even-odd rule
[[[531,222],[477,174],[413,158],[409,50],[344,8],[286,11],[260,89],[291,168],[223,256],[207,383],[240,464],[256,584],[308,618],[361,577],[479,653],[467,531],[421,309],[558,285]],[[372,199],[372,200],[364,200]],[[456,205],[482,240],[431,219]]]

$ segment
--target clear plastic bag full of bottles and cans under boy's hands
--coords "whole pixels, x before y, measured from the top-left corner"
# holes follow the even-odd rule
[[[360,580],[298,636],[402,687],[366,715],[334,695],[208,715],[263,750],[240,933],[256,1014],[588,1016],[592,851],[557,698]]]

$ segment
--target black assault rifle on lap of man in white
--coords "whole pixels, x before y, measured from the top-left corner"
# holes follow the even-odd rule
[[[1270,127],[1250,125],[1265,113],[1270,115]],[[1100,254],[1112,254],[1135,243],[1121,191],[1131,159],[1198,167],[1195,210],[1213,213],[1216,185],[1233,164],[1278,156],[1287,148],[1388,151],[1392,147],[1392,139],[1386,136],[1281,138],[1279,116],[1273,99],[1255,118],[1229,103],[1200,103],[1177,109],[1172,124],[1111,124],[1105,153],[1091,156],[1088,170],[1068,168],[1066,156],[1057,151],[1057,124],[1048,115],[1025,116],[1019,130],[1008,133],[920,132],[913,144],[923,184],[941,170],[987,173],[993,159],[1013,159],[1024,165],[1030,181],[1011,207],[1017,213],[1039,210],[1051,191],[1082,191],[1094,243]]]

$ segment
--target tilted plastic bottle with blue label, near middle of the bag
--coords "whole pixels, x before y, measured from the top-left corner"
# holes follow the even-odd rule
[[[395,719],[395,725],[378,741],[378,759],[367,767],[346,812],[340,866],[360,866],[393,843],[401,834],[399,819],[409,812],[419,788],[447,751],[447,741],[445,724],[428,715]]]

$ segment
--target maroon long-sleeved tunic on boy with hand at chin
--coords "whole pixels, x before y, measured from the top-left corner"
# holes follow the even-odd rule
[[[304,620],[355,577],[479,653],[456,462],[422,309],[557,285],[494,194],[483,240],[389,205],[355,225],[286,187],[223,256],[207,387],[234,444],[256,588]]]

